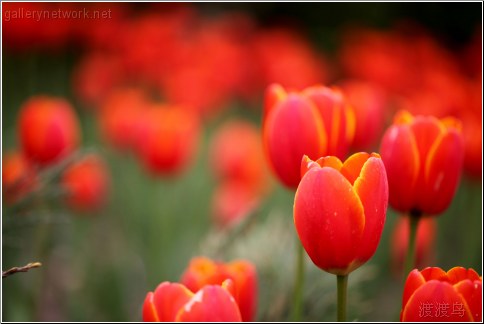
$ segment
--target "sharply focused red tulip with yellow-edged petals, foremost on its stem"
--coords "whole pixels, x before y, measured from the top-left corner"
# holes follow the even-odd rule
[[[294,224],[316,266],[336,275],[355,270],[375,253],[385,223],[388,184],[376,153],[304,157],[294,199]]]

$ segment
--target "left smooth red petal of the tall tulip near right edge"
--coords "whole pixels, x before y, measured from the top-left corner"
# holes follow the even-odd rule
[[[385,133],[380,154],[388,176],[389,200],[396,210],[414,207],[414,190],[420,169],[415,137],[407,125],[393,125]]]

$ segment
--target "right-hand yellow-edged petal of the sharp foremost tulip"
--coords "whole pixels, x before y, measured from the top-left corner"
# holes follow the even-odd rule
[[[365,154],[355,154],[357,157],[353,160],[357,161],[356,169],[360,168],[359,162],[361,160],[370,156],[367,153]],[[346,162],[343,169],[345,166]],[[349,168],[349,170],[354,169]],[[371,156],[364,163],[361,174],[355,181],[354,188],[365,211],[365,229],[361,244],[358,247],[358,259],[363,264],[373,256],[380,242],[388,206],[387,175],[379,157]]]

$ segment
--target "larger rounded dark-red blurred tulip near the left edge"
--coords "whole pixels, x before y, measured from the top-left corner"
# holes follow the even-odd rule
[[[41,165],[70,154],[79,143],[79,125],[64,99],[37,96],[20,110],[18,132],[25,156]]]

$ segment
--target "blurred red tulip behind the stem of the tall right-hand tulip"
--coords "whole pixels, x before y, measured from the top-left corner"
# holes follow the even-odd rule
[[[428,266],[433,259],[436,227],[434,217],[424,217],[418,222],[415,242],[415,266],[417,268]],[[408,250],[409,230],[409,218],[405,215],[398,217],[391,241],[392,266],[396,273],[401,273],[403,269],[403,262]]]

